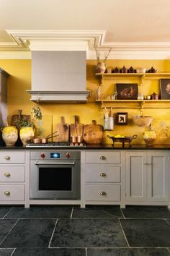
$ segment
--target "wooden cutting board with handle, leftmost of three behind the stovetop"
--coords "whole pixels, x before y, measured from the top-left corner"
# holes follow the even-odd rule
[[[56,124],[56,130],[58,131],[56,142],[69,142],[69,125],[66,124],[63,116],[61,116],[61,123]]]

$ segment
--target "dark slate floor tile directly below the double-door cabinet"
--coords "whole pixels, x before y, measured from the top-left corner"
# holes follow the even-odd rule
[[[122,212],[125,218],[170,218],[166,206],[126,206]]]

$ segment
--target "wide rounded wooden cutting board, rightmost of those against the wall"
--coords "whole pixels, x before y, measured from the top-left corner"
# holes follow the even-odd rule
[[[84,125],[84,142],[86,144],[100,144],[103,140],[103,127],[95,120],[92,124]]]

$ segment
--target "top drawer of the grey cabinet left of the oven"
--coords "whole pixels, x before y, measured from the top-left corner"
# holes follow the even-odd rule
[[[23,152],[3,151],[0,152],[0,163],[24,163],[25,156]]]

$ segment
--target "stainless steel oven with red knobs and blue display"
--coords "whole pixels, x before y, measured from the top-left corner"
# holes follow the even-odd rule
[[[30,198],[80,200],[80,151],[32,150]]]

